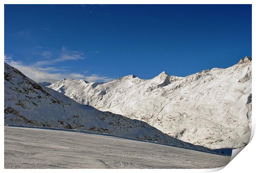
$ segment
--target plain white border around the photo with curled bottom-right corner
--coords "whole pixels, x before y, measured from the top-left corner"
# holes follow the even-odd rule
[[[256,1],[255,0],[1,0],[0,1],[0,53],[2,54],[2,59],[1,59],[1,73],[3,74],[4,72],[4,4],[252,4],[252,47],[255,47],[255,23],[256,23]],[[252,49],[252,57],[255,57],[255,50]],[[253,60],[254,61],[254,60]],[[253,63],[252,63],[253,64]],[[252,70],[254,71],[254,65],[252,65]],[[253,78],[254,79],[254,78]],[[4,80],[4,76],[0,76],[0,81]],[[4,105],[4,83],[0,85],[0,91],[1,91],[1,105]],[[252,80],[252,91],[254,91],[254,80]],[[252,94],[254,95],[254,94]],[[254,108],[254,102],[252,102],[253,108]],[[3,108],[3,107],[2,107]],[[2,110],[3,113],[3,110]],[[252,115],[254,114],[254,109],[252,109]],[[18,172],[19,173],[26,173],[26,172],[45,172],[45,171],[50,171],[50,172],[55,172],[55,173],[68,173],[71,170],[65,170],[65,169],[4,169],[4,119],[0,118],[1,122],[1,168],[5,172]],[[255,162],[254,162],[254,155],[256,154],[255,152],[255,147],[256,142],[255,139],[252,137],[254,136],[255,132],[255,119],[252,116],[252,135],[250,139],[250,143],[244,147],[243,152],[239,153],[239,155],[227,165],[222,168],[215,168],[215,169],[175,169],[175,170],[169,170],[169,169],[161,169],[158,171],[161,171],[161,173],[169,173],[170,171],[174,172],[213,172],[213,171],[218,171],[221,170],[220,172],[251,172],[251,170],[254,170]],[[239,149],[235,150],[235,152],[240,152]],[[223,169],[224,168],[224,169]],[[85,170],[83,169],[74,169],[72,171],[76,172],[84,172]],[[106,173],[117,173],[117,172],[124,172],[128,173],[130,171],[134,172],[155,172],[157,170],[152,170],[152,169],[87,169],[87,172],[101,172],[104,171]]]

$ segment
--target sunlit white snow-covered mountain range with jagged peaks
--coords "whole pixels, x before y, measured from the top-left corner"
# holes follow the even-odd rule
[[[250,57],[187,77],[162,72],[153,79],[128,75],[107,83],[68,78],[47,87],[212,149],[242,147],[251,134]]]

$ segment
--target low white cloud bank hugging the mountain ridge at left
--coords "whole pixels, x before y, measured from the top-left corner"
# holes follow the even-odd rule
[[[67,58],[67,57],[66,57]],[[70,59],[70,58],[68,58]],[[88,82],[109,82],[112,79],[109,77],[91,74],[84,75],[75,72],[67,72],[66,67],[42,67],[38,63],[25,65],[22,61],[14,61],[11,55],[5,54],[5,62],[20,70],[24,75],[33,79],[36,82],[51,82],[55,83],[60,79],[71,77],[73,79],[85,79]],[[86,71],[88,72],[88,71]]]

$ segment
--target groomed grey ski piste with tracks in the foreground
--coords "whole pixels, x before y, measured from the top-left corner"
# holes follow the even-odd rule
[[[112,136],[5,126],[5,168],[218,168],[229,161]]]

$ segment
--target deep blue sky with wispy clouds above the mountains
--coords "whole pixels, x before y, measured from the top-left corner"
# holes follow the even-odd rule
[[[37,82],[187,76],[251,56],[251,5],[5,5],[5,61]]]

